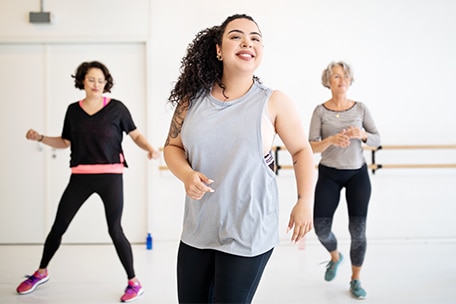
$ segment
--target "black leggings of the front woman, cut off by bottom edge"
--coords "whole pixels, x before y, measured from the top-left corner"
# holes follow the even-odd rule
[[[180,243],[179,303],[251,303],[273,249],[242,257]]]

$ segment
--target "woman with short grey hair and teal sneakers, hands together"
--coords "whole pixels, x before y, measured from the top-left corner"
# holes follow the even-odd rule
[[[360,272],[366,253],[366,218],[371,195],[362,144],[379,146],[380,135],[366,105],[347,97],[353,83],[353,73],[347,63],[330,63],[321,80],[332,96],[315,108],[310,122],[310,145],[314,153],[321,153],[315,187],[314,228],[331,255],[325,280],[332,281],[343,260],[332,223],[341,190],[345,188],[351,237],[350,292],[362,299],[366,291],[361,287]]]

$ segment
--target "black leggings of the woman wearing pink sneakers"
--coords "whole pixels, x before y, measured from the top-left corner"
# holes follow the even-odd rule
[[[57,214],[44,243],[40,268],[47,268],[60,247],[62,236],[84,202],[97,193],[104,204],[109,235],[128,279],[135,277],[133,253],[121,226],[123,210],[122,174],[72,174],[60,199]]]

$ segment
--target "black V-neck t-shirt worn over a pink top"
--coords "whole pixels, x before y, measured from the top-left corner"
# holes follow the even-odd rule
[[[123,132],[136,129],[127,107],[111,99],[100,111],[87,114],[79,102],[70,104],[65,114],[62,138],[71,141],[70,167],[77,165],[118,164],[127,166],[123,155]]]

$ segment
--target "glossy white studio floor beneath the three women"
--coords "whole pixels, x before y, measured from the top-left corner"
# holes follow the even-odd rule
[[[318,243],[283,241],[266,267],[253,303],[356,303],[349,292],[349,244],[332,282],[323,274],[329,256]],[[135,268],[145,293],[135,303],[177,303],[177,242],[155,242],[151,251],[133,245]],[[126,277],[112,245],[62,245],[49,265],[50,280],[29,295],[18,295],[31,274],[40,245],[0,246],[0,303],[119,303]],[[362,284],[365,303],[456,303],[456,240],[369,241]]]

